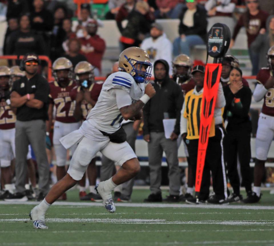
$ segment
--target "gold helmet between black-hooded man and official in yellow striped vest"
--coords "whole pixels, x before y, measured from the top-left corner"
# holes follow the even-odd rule
[[[178,66],[188,68],[187,72],[179,72],[177,70]],[[172,61],[172,72],[173,72],[174,79],[177,80],[177,77],[178,77],[182,81],[189,80],[191,77],[192,66],[193,66],[193,62],[188,55],[180,54],[174,57]]]

